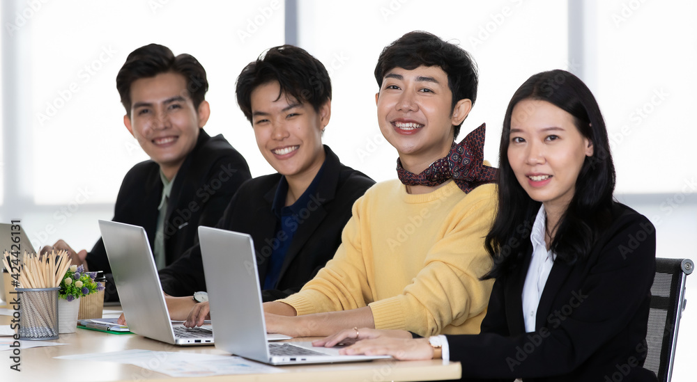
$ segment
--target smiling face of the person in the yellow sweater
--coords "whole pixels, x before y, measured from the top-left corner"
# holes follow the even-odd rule
[[[375,97],[380,130],[399,152],[402,166],[413,173],[445,157],[452,145],[452,126],[459,125],[472,106],[470,100],[459,100],[452,109],[447,74],[437,66],[395,67],[385,74]]]

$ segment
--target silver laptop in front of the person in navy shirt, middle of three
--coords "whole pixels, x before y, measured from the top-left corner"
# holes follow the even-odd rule
[[[99,221],[99,230],[130,331],[168,344],[213,344],[210,329],[171,324],[145,230],[103,220]]]

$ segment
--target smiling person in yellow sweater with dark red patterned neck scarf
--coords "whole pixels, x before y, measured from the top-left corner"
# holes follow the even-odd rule
[[[383,49],[375,78],[378,125],[399,153],[399,180],[355,202],[334,258],[300,292],[264,303],[270,333],[480,331],[493,285],[480,278],[492,265],[484,237],[496,169],[483,163],[484,125],[454,143],[477,97],[475,63],[456,45],[411,32]]]

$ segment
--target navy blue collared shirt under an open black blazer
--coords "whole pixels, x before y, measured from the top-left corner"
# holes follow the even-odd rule
[[[271,205],[273,213],[278,218],[275,236],[277,240],[272,247],[273,251],[271,252],[262,289],[276,289],[276,283],[281,273],[283,260],[285,260],[288,248],[290,248],[293,237],[298,231],[298,225],[307,218],[305,215],[309,214],[307,206],[309,202],[312,202],[310,196],[314,195],[319,187],[319,179],[326,163],[327,160],[325,159],[322,167],[319,168],[317,174],[314,175],[312,183],[309,184],[300,198],[288,207],[285,206],[286,196],[288,195],[288,181],[286,181],[285,176],[282,176],[281,180],[279,180],[276,194],[273,197],[273,205]]]

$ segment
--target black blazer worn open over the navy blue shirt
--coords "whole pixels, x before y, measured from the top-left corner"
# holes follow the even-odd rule
[[[359,171],[344,166],[339,157],[324,146],[326,159],[318,177],[316,191],[297,214],[297,231],[286,251],[277,282],[264,289],[263,301],[282,299],[298,292],[341,244],[341,232],[351,218],[353,202],[374,182]],[[270,270],[273,248],[281,245],[279,223],[273,203],[283,175],[275,173],[245,182],[215,225],[223,230],[244,232],[254,239],[259,280],[263,284]],[[282,237],[282,235],[281,235]],[[201,247],[194,246],[179,260],[160,271],[162,289],[171,296],[188,296],[206,290]]]

